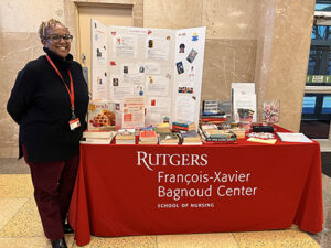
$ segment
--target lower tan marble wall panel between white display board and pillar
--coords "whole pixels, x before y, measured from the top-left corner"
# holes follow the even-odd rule
[[[254,82],[256,40],[206,39],[201,99],[229,100],[231,84]]]

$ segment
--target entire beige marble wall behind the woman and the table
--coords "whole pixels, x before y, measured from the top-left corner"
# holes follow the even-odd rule
[[[73,0],[1,0],[0,158],[17,157],[6,103],[19,69],[41,55],[36,30],[50,18],[75,32]],[[81,0],[134,4],[134,25],[206,26],[202,99],[229,99],[233,82],[256,82],[258,103],[281,100],[280,125],[298,131],[314,0]],[[75,34],[75,33],[74,33]],[[75,55],[76,50],[73,47]]]

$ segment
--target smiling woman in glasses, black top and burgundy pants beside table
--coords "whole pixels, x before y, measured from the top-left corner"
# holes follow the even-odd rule
[[[7,110],[20,125],[20,158],[31,169],[34,198],[52,247],[66,247],[65,224],[86,128],[88,89],[70,54],[73,36],[54,19],[39,35],[46,53],[19,72]]]

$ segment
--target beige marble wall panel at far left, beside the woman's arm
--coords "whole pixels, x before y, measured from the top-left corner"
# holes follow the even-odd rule
[[[18,72],[43,50],[36,32],[1,33],[0,47],[0,157],[13,158],[18,155],[18,125],[7,112],[7,101]]]

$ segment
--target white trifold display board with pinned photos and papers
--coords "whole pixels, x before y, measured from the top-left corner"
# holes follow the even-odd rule
[[[143,97],[145,125],[169,118],[197,125],[205,26],[106,26],[92,20],[92,99]],[[120,118],[117,118],[117,125]]]

